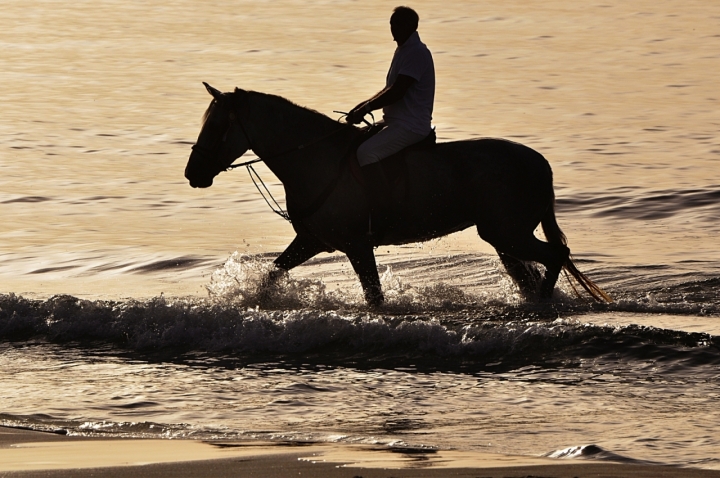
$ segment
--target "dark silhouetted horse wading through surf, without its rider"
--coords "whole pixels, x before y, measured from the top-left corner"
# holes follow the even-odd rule
[[[380,306],[374,247],[426,241],[474,225],[525,297],[551,300],[565,269],[595,300],[611,300],[570,257],[555,218],[552,170],[537,151],[481,138],[408,152],[404,186],[393,191],[402,208],[382,235],[368,234],[366,190],[348,160],[362,128],[280,96],[239,88],[222,93],[203,84],[213,99],[185,168],[190,186],[210,187],[252,150],[285,188],[296,237],[275,259],[265,285],[321,252],[337,250],[350,260],[366,302]],[[538,224],[547,242],[535,237]],[[544,274],[527,263],[542,264]]]

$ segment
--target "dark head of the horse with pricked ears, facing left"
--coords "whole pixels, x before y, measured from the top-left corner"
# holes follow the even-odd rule
[[[237,88],[233,93],[221,93],[207,83],[203,84],[213,101],[205,112],[203,127],[185,167],[185,177],[194,188],[212,186],[215,176],[250,149],[249,139],[237,116],[246,93]]]

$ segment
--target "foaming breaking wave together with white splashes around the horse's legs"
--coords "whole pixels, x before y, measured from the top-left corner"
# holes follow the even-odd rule
[[[359,285],[329,290],[322,280],[286,275],[266,287],[263,277],[270,267],[267,258],[233,254],[213,274],[207,299],[0,295],[0,340],[103,342],[143,353],[195,351],[248,360],[313,354],[337,361],[434,357],[456,366],[472,357],[479,367],[612,350],[643,356],[690,353],[702,363],[720,357],[720,338],[709,334],[581,320],[585,313],[614,311],[718,314],[717,278],[694,277],[650,290],[626,287],[612,304],[562,290],[554,303],[534,304],[524,302],[507,278],[482,295],[442,282],[411,287],[388,267],[382,275],[388,304],[370,310]],[[574,318],[561,318],[568,316]]]

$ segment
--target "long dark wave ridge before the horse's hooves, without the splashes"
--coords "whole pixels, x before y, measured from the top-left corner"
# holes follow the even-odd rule
[[[358,357],[396,363],[428,359],[475,366],[599,356],[683,356],[720,362],[720,338],[640,325],[584,324],[576,320],[501,320],[469,315],[383,316],[336,311],[239,310],[157,298],[106,303],[69,296],[32,301],[0,298],[0,337],[56,343],[102,341],[140,352],[202,351],[260,359],[316,355],[344,362]]]

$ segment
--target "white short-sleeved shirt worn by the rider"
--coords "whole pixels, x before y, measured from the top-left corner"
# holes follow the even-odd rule
[[[402,99],[383,108],[385,122],[399,123],[413,133],[429,134],[435,101],[435,64],[418,32],[395,50],[386,86],[395,83],[398,75],[414,78],[415,82]]]

